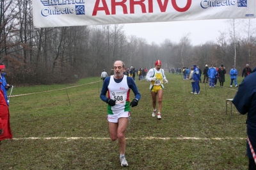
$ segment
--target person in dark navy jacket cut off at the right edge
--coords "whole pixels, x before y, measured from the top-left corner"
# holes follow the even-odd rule
[[[232,100],[237,111],[241,114],[247,114],[247,150],[246,155],[249,158],[249,168],[256,169],[256,160],[253,160],[252,151],[256,151],[256,68],[239,85],[238,91]],[[252,150],[250,148],[250,144]]]

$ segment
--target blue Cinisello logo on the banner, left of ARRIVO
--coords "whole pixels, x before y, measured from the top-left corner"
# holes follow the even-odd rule
[[[41,0],[41,3],[47,6],[41,10],[44,17],[74,13],[84,15],[84,0]],[[65,8],[61,8],[63,5],[65,5]]]

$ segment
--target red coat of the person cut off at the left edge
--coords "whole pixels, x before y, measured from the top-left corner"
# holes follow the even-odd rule
[[[0,144],[4,139],[12,139],[12,131],[9,108],[6,104],[4,93],[0,90]]]

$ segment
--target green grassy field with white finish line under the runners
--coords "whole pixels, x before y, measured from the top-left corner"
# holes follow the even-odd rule
[[[149,82],[136,81],[141,100],[126,132],[129,167],[120,166],[118,142],[109,139],[99,77],[13,88],[20,96],[10,98],[13,139],[2,141],[0,169],[247,169],[246,116],[234,106],[230,116],[230,104],[226,114],[237,91],[230,77],[224,88],[201,83],[200,95],[190,94],[182,75],[166,77],[162,120],[151,116]]]

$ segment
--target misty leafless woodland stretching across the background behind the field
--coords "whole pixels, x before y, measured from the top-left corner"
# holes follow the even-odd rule
[[[178,43],[157,44],[127,36],[122,25],[35,29],[31,1],[0,1],[0,62],[9,84],[74,82],[100,76],[102,69],[109,73],[115,60],[147,69],[156,59],[165,69],[223,64],[229,72],[236,65],[239,75],[247,63],[256,66],[256,26],[250,19],[227,20],[230,27],[216,42],[193,45],[188,34]]]

